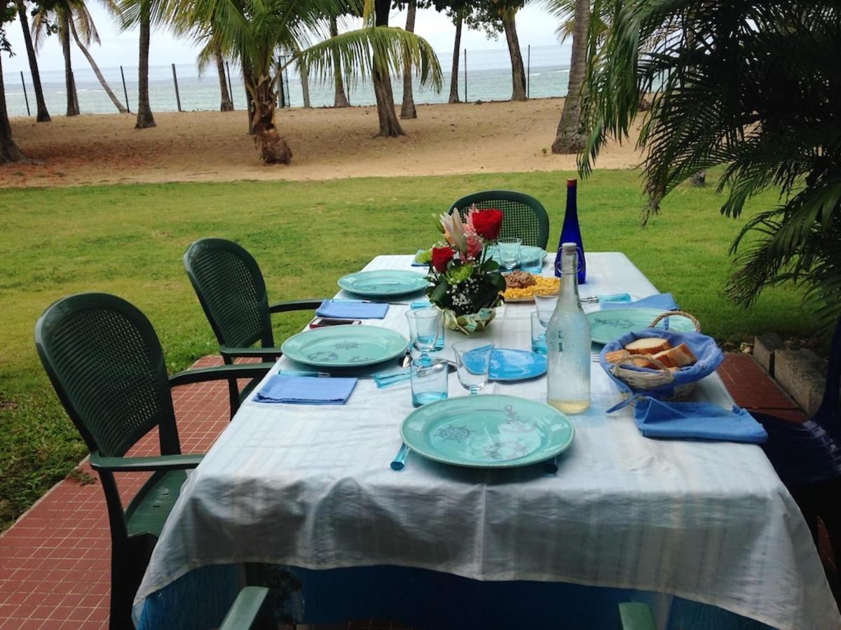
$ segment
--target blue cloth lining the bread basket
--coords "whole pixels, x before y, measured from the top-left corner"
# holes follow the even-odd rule
[[[718,347],[715,339],[706,336],[706,334],[677,333],[672,330],[664,330],[663,328],[646,328],[644,330],[625,333],[621,337],[613,339],[609,344],[605,344],[599,356],[599,365],[601,365],[602,370],[606,371],[607,375],[611,377],[612,381],[616,383],[616,386],[621,391],[631,392],[632,389],[624,381],[620,381],[613,375],[613,364],[606,360],[605,355],[613,350],[621,350],[634,339],[642,339],[643,337],[665,339],[673,348],[680,344],[686,344],[697,359],[694,365],[674,372],[674,381],[669,383],[669,385],[660,386],[652,390],[643,390],[645,394],[653,398],[671,396],[674,394],[675,387],[701,381],[702,378],[716,371],[724,360],[722,349]],[[640,372],[659,372],[659,370],[650,370],[632,365],[624,365],[623,367]],[[634,393],[637,392],[634,391]]]

